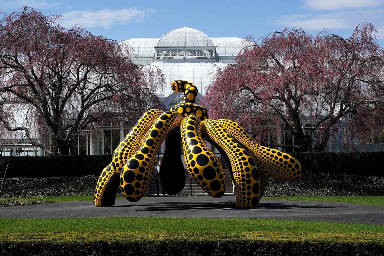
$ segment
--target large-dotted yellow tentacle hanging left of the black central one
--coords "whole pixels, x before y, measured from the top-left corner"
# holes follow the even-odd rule
[[[149,129],[141,147],[127,160],[122,169],[120,186],[128,201],[139,201],[147,191],[153,175],[157,150],[167,134],[180,126],[183,118],[175,111],[161,114]]]

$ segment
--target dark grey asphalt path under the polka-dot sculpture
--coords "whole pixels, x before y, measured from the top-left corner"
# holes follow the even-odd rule
[[[258,208],[237,209],[235,197],[147,197],[136,203],[116,200],[111,207],[95,207],[93,201],[45,203],[0,208],[0,218],[66,217],[192,217],[263,218],[335,221],[384,225],[384,207],[321,201],[260,201]]]

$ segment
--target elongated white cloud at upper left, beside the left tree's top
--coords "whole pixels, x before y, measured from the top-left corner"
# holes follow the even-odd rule
[[[154,9],[139,10],[126,8],[120,10],[103,9],[98,11],[71,11],[63,14],[61,26],[69,28],[82,25],[84,28],[109,28],[113,24],[124,25],[127,22],[142,21],[146,15],[154,13]]]

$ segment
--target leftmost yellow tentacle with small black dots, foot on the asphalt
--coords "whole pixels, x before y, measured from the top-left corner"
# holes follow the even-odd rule
[[[142,141],[149,128],[163,111],[151,109],[144,113],[114,150],[113,159],[101,172],[94,192],[95,206],[112,206],[115,204],[119,177],[126,160],[131,157]]]

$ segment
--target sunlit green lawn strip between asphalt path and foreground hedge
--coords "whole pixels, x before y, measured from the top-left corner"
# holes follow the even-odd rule
[[[384,225],[367,225],[303,220],[270,220],[245,218],[0,218],[0,233],[70,232],[70,231],[179,231],[242,233],[252,231],[291,233],[384,233]]]

